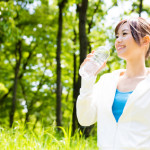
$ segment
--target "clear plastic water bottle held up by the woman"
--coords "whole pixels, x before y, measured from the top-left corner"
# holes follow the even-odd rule
[[[104,64],[110,55],[109,46],[100,46],[94,52],[94,55],[79,70],[79,74],[83,78],[95,76],[99,68]]]

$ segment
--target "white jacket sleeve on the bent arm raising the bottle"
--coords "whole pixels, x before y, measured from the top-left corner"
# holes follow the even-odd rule
[[[80,94],[77,98],[76,110],[78,122],[82,126],[90,126],[97,121],[97,101],[101,79],[94,84],[96,77],[90,80],[81,79]]]

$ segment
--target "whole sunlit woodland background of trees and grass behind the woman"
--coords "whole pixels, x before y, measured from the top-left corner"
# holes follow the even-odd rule
[[[149,0],[0,1],[0,149],[97,149],[96,125],[82,127],[76,118],[80,64],[109,43],[97,80],[124,68],[115,25],[148,19],[149,9]]]

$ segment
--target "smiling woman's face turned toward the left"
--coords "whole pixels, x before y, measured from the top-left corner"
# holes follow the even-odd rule
[[[115,48],[120,58],[125,60],[139,58],[143,53],[141,46],[138,45],[132,34],[129,24],[126,22],[122,24],[116,34]],[[145,55],[144,53],[142,56]]]

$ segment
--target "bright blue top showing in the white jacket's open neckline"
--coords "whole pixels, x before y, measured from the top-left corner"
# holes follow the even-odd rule
[[[112,105],[112,112],[116,119],[116,122],[118,122],[120,116],[122,115],[124,106],[127,102],[128,97],[130,96],[131,92],[120,92],[118,89],[116,89],[116,94],[114,98],[114,102]]]

